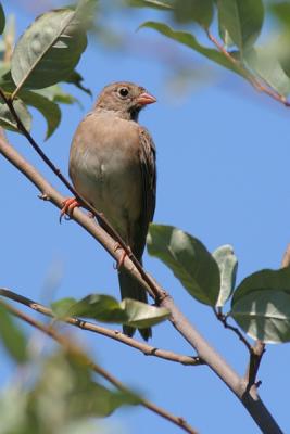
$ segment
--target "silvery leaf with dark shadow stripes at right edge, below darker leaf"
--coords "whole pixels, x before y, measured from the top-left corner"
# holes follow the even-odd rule
[[[290,341],[290,293],[253,290],[239,297],[229,314],[254,340],[274,344]]]

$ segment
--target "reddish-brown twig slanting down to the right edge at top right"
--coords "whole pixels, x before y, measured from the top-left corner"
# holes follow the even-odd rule
[[[259,92],[263,92],[263,93],[267,94],[268,97],[273,98],[275,101],[278,101],[281,104],[283,104],[286,107],[290,106],[290,102],[287,101],[287,99],[282,94],[280,94],[276,90],[274,90],[272,88],[272,86],[268,82],[266,82],[265,80],[263,80],[263,79],[259,80],[249,69],[247,69],[241,64],[240,61],[232,58],[232,55],[225,49],[225,47],[222,43],[218,42],[218,40],[211,34],[211,31],[207,28],[205,28],[204,30],[207,35],[207,38],[214,43],[214,46],[218,49],[218,51],[222,54],[224,54],[224,56],[227,58],[227,60],[229,62],[231,62],[232,65],[238,66],[238,68],[242,72],[243,76],[251,82],[251,85]]]

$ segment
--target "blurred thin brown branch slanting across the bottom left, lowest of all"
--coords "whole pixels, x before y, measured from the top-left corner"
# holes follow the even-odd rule
[[[23,314],[21,310],[8,305],[7,303],[0,301],[0,304],[4,306],[4,308],[10,311],[10,314],[15,317],[22,319],[28,324],[33,326],[35,329],[40,330],[48,336],[52,337],[56,341],[68,354],[73,356],[80,356],[81,360],[84,360],[85,365],[87,365],[90,369],[92,369],[96,373],[104,378],[109,383],[115,386],[118,391],[130,394],[130,391],[116,378],[114,378],[110,372],[101,368],[99,365],[94,363],[86,354],[84,354],[76,345],[74,345],[71,341],[68,341],[64,335],[60,334],[55,329],[51,326],[46,326],[42,322],[36,321],[31,317],[26,314]],[[148,410],[154,412],[155,414],[166,419],[167,421],[174,423],[179,426],[181,430],[189,434],[198,434],[193,427],[191,427],[184,418],[176,417],[168,411],[164,410],[162,407],[156,406],[148,399],[140,398],[140,405]]]

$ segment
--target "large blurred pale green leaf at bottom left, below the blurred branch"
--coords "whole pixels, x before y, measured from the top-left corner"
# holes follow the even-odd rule
[[[110,416],[123,405],[139,404],[140,398],[134,392],[111,391],[93,380],[81,357],[59,353],[46,360],[29,401],[42,422],[53,420],[60,427],[67,420]]]

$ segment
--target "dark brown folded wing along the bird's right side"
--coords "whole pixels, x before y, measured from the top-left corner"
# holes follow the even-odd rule
[[[156,202],[156,151],[150,133],[139,128],[139,162],[142,181],[142,212],[134,230],[134,251],[140,259],[144,250],[148,226],[153,219]]]

